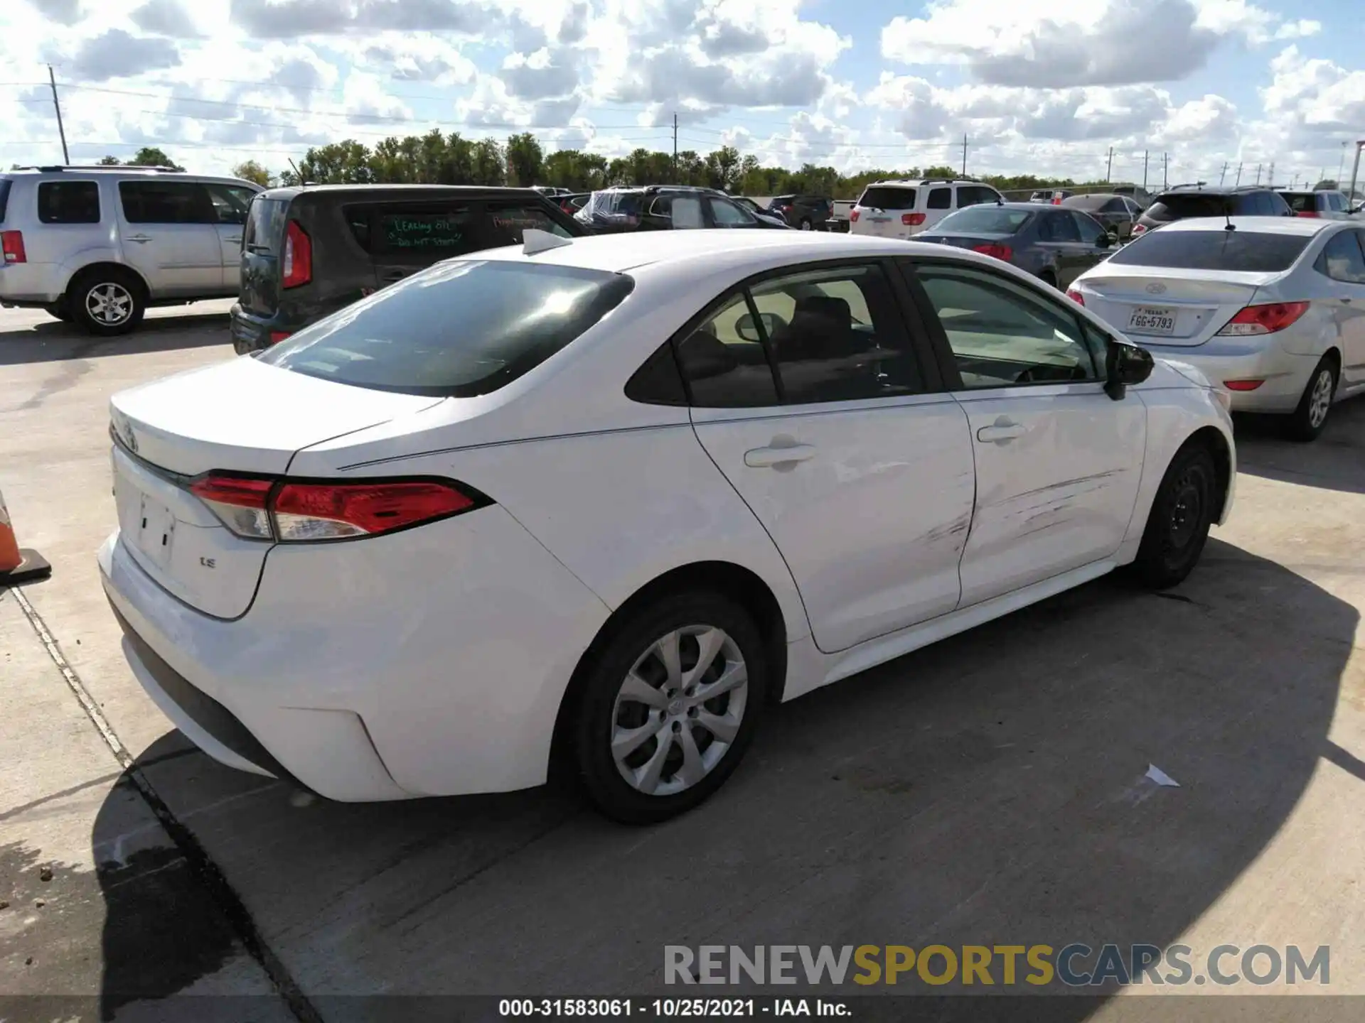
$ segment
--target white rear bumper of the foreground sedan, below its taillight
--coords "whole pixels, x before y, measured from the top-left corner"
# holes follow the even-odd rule
[[[274,547],[233,621],[171,596],[117,532],[98,561],[124,656],[176,727],[229,767],[344,802],[542,783],[565,687],[607,617],[498,506]]]

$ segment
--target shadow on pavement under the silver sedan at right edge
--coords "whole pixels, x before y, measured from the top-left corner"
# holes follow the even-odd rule
[[[1235,430],[1241,472],[1365,494],[1365,397],[1334,405],[1327,428],[1310,443],[1286,441],[1279,416],[1238,415]]]

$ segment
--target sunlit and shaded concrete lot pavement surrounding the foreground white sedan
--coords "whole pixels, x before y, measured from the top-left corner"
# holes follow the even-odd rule
[[[355,994],[677,994],[665,944],[1072,941],[1325,944],[1321,990],[1365,994],[1365,401],[1308,447],[1239,423],[1237,509],[1179,589],[1100,580],[820,690],[708,805],[629,829],[556,790],[314,801],[142,694],[94,563],[106,401],[231,357],[225,307],[109,342],[0,311],[0,490],[55,566],[0,592],[0,994],[330,1020]],[[998,1015],[1153,1019],[1145,994]],[[1254,1018],[1360,1018],[1302,1001]]]

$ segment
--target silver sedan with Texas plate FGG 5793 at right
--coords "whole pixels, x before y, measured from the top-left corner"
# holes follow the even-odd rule
[[[1156,355],[1284,416],[1313,441],[1332,402],[1365,393],[1365,229],[1283,217],[1178,220],[1067,292]]]

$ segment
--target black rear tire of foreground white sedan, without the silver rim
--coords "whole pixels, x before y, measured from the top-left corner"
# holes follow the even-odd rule
[[[629,698],[618,702],[627,677],[636,668],[635,674],[651,687],[666,690],[666,668],[651,651],[661,638],[696,626],[723,632],[729,645],[718,648],[713,664],[730,664],[730,653],[737,651],[747,670],[747,686],[737,685],[695,708],[685,707],[691,697],[681,690],[669,697],[667,705],[662,705],[662,700],[658,707]],[[688,668],[695,668],[698,648],[695,637],[681,638],[678,662],[682,671],[676,683],[685,682]],[[725,784],[753,739],[767,698],[768,668],[763,637],[743,607],[706,591],[670,593],[620,622],[591,656],[591,663],[584,666],[587,674],[573,708],[572,756],[584,791],[605,816],[622,824],[654,824],[691,810]],[[714,683],[719,670],[719,666],[707,667],[700,678],[710,681],[703,685]],[[700,713],[715,715],[714,720],[721,722],[722,716],[736,711],[732,694],[740,700],[738,720],[726,747],[700,720],[696,724],[688,722]],[[695,764],[704,765],[708,753],[719,750],[713,765],[691,784],[681,777],[684,726],[691,749],[700,750]],[[625,754],[621,767],[613,753],[617,728],[648,731],[648,737]],[[637,780],[650,777],[648,768],[655,761],[655,784],[666,788],[681,783],[684,787],[680,791],[646,792],[627,782],[625,771],[637,772]]]

